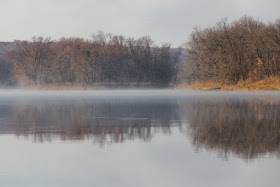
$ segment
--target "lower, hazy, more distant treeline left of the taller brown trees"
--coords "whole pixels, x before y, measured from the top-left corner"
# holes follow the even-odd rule
[[[180,49],[157,47],[150,37],[127,38],[99,32],[83,38],[33,37],[15,41],[7,53],[11,77],[20,84],[150,83],[167,86],[176,81]]]

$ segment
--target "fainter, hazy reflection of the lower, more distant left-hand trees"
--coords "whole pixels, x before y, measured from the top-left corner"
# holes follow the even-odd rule
[[[1,134],[35,142],[92,140],[99,145],[140,139],[180,127],[176,102],[71,101],[1,105]]]

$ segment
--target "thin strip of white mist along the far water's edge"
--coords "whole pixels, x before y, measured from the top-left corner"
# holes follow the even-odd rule
[[[259,97],[268,98],[270,96],[277,97],[280,96],[279,91],[194,91],[188,89],[96,89],[96,90],[26,90],[26,89],[0,89],[0,96],[3,96],[9,99],[15,99],[14,97],[24,97],[25,98],[36,98],[41,97],[42,99],[47,97],[62,97],[63,99],[69,99],[70,97],[83,98],[97,98],[97,97],[106,97],[106,98],[129,98],[133,99],[147,98],[149,96],[157,98],[175,98],[175,97],[219,97],[223,96],[236,97],[236,96],[245,96],[245,97]],[[1,99],[1,98],[0,98]],[[59,98],[61,99],[61,98]],[[260,98],[258,98],[260,99]]]

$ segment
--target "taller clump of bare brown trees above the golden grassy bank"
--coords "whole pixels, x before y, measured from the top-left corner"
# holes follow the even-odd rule
[[[195,28],[187,43],[183,77],[189,82],[260,80],[280,75],[280,20],[264,23],[242,17],[214,27]]]

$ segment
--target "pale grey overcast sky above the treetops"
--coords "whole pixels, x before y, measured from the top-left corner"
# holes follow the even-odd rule
[[[188,39],[194,26],[243,15],[264,21],[280,18],[279,0],[0,0],[0,40],[32,36],[90,38],[102,30],[173,47]]]

